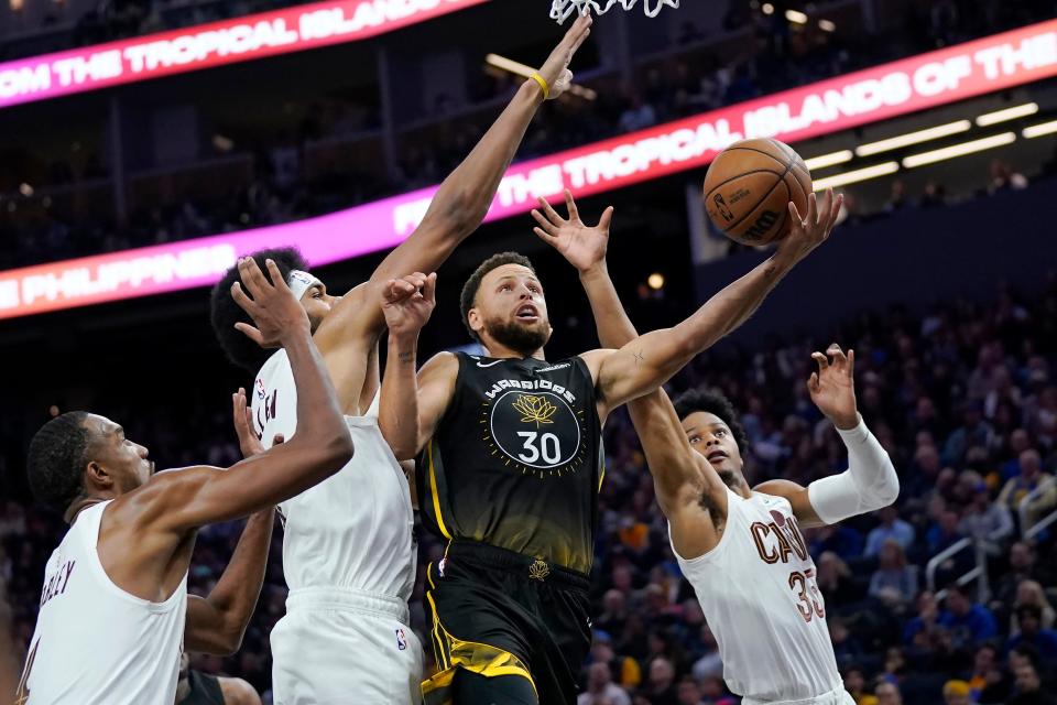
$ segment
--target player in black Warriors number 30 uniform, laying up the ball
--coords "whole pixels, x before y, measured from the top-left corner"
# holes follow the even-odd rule
[[[422,453],[422,516],[449,542],[427,568],[439,672],[423,683],[426,705],[576,701],[590,646],[602,423],[744,321],[829,236],[839,208],[816,219],[814,195],[809,203],[808,223],[797,219],[771,258],[683,323],[557,362],[544,358],[552,328],[543,284],[521,254],[489,258],[462,290],[464,323],[487,355],[443,352],[417,377],[432,282],[390,283],[380,425],[399,458]],[[585,247],[553,241],[558,228],[534,215],[537,234],[564,253]],[[607,229],[611,217],[602,216]]]

